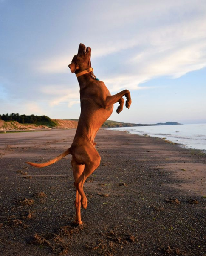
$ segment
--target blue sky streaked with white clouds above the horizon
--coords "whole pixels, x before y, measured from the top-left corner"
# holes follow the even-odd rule
[[[112,95],[130,90],[110,120],[206,123],[206,0],[0,0],[0,114],[78,119],[79,43]]]

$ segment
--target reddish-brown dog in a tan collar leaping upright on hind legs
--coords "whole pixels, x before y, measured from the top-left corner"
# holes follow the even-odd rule
[[[127,108],[130,108],[132,102],[128,90],[123,90],[111,96],[105,84],[94,76],[90,58],[91,48],[86,48],[84,44],[79,44],[78,53],[73,57],[69,65],[71,72],[77,76],[81,100],[81,114],[71,147],[47,163],[27,162],[32,166],[41,168],[59,161],[68,154],[72,154],[71,164],[75,180],[74,186],[76,187],[76,224],[82,224],[81,204],[84,209],[87,208],[87,198],[83,185],[87,177],[99,166],[101,160],[95,148],[94,139],[96,133],[112,114],[114,103],[119,102],[117,113],[120,113],[124,104],[123,96],[127,98]]]

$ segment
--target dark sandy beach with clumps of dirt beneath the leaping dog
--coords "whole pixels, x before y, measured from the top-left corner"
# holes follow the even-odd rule
[[[0,255],[206,256],[206,154],[157,137],[100,129],[102,160],[73,224],[75,129],[0,134]]]

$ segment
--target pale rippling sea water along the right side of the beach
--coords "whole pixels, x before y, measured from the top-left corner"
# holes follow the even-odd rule
[[[179,143],[187,148],[206,151],[206,124],[194,125],[159,125],[159,126],[133,126],[108,128],[118,131],[128,131],[132,134],[150,135],[165,138],[174,143]]]

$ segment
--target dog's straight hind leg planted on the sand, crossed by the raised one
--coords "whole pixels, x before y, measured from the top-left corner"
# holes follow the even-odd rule
[[[73,158],[71,160],[71,165],[73,169],[74,180],[78,180],[78,178],[82,175],[82,172],[85,169],[85,165],[77,163]],[[76,216],[74,223],[81,225],[81,195],[76,189],[76,199],[75,199],[75,208],[76,208]]]

